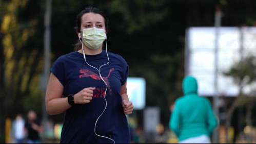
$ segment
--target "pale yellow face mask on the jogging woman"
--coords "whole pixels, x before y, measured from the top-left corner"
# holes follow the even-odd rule
[[[95,27],[84,29],[81,32],[83,32],[82,39],[85,45],[91,50],[98,49],[107,37],[104,29],[97,29]]]

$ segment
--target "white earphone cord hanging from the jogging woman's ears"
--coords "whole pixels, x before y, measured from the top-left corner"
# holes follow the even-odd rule
[[[80,42],[82,43],[82,51],[83,51],[83,54],[84,54],[85,62],[86,62],[89,66],[91,66],[91,67],[97,69],[96,67],[90,65],[90,64],[86,61],[85,52],[84,52],[84,45],[83,45],[83,42],[82,42],[81,39],[80,39],[80,35],[81,35],[81,34],[79,33],[79,34],[78,34],[78,37],[79,37]],[[108,39],[106,38],[106,40],[107,40],[107,41],[106,41],[106,53],[107,53],[107,57],[108,57],[108,52],[107,52]],[[101,70],[101,67],[102,67],[102,66],[107,65],[108,63],[109,63],[109,57],[108,57],[108,62],[105,63],[105,64],[103,64],[103,65],[101,65],[100,68],[97,69],[97,70],[99,71],[99,74],[100,74],[100,77],[101,77],[102,81],[103,81],[103,82],[105,83],[105,85],[106,85],[106,90],[105,90],[105,94],[104,94],[104,99],[105,99],[105,102],[106,102],[106,106],[105,106],[103,112],[101,113],[101,115],[97,118],[97,120],[96,120],[96,122],[95,122],[95,125],[94,125],[94,133],[95,133],[97,136],[108,138],[108,139],[112,140],[112,141],[115,143],[115,141],[114,141],[113,139],[111,139],[111,138],[109,138],[109,137],[106,137],[106,136],[99,135],[99,134],[96,133],[96,124],[97,124],[99,118],[102,116],[102,114],[105,112],[105,110],[106,110],[106,108],[107,108],[106,93],[107,93],[107,90],[108,90],[108,85],[107,85],[107,83],[104,81],[104,79],[102,78],[100,70]]]

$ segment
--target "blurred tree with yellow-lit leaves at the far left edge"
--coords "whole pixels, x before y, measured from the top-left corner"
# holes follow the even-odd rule
[[[42,105],[38,99],[42,95],[38,84],[43,50],[40,2],[1,1],[1,133],[5,118],[26,114],[29,109],[38,111]]]

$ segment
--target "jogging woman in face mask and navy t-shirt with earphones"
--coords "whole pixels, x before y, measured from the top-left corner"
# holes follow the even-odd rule
[[[61,143],[130,142],[129,69],[120,55],[107,52],[107,30],[102,11],[82,10],[76,17],[75,52],[58,58],[50,69],[46,110],[51,115],[66,112]]]

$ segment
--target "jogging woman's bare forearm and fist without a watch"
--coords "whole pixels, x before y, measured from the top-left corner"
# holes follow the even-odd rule
[[[133,111],[133,104],[131,101],[129,101],[128,95],[127,95],[127,87],[126,83],[121,86],[120,94],[122,96],[122,106],[125,114],[131,114]]]

